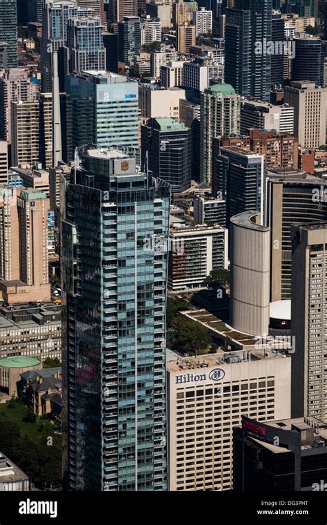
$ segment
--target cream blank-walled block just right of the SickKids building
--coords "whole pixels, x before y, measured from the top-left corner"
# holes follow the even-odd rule
[[[153,84],[139,85],[139,108],[145,118],[179,117],[179,100],[185,99],[181,88],[159,88]]]

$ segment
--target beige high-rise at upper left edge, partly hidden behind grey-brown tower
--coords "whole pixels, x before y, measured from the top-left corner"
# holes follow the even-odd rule
[[[0,138],[11,144],[12,102],[32,102],[37,98],[37,86],[28,78],[28,70],[15,68],[0,75]]]

